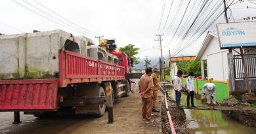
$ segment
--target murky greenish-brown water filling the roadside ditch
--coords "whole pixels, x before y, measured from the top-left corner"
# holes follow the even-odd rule
[[[167,88],[169,96],[175,99],[175,92],[171,88]],[[186,106],[186,94],[182,94],[181,102]],[[194,99],[196,106],[204,106],[201,100]],[[205,106],[206,107],[206,106]],[[248,127],[236,120],[227,118],[220,110],[194,110],[184,109],[188,120],[188,128],[190,133],[255,133],[255,127]]]

